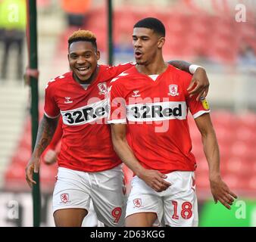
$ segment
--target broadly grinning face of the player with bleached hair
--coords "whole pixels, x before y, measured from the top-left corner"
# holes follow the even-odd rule
[[[80,82],[86,82],[95,72],[100,57],[91,42],[73,42],[68,51],[70,69]]]

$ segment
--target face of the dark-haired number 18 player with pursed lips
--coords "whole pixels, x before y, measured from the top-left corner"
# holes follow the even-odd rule
[[[163,46],[160,39],[160,36],[152,29],[133,29],[133,49],[137,64],[145,65],[155,60],[159,48]]]

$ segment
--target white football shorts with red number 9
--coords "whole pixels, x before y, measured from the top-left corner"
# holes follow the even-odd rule
[[[126,198],[121,165],[103,172],[80,172],[58,168],[53,192],[53,213],[59,209],[89,211],[92,200],[100,222],[109,227],[123,226]]]

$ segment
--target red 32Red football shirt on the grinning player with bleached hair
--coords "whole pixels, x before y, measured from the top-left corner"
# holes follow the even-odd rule
[[[107,113],[107,88],[114,76],[133,67],[99,66],[96,79],[87,89],[65,73],[48,82],[45,88],[45,115],[61,113],[63,136],[58,165],[84,172],[99,172],[121,163],[111,144]]]

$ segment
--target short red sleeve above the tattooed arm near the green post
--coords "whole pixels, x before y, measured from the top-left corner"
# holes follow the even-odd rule
[[[55,98],[54,98],[54,92],[53,92],[53,85],[51,83],[48,83],[48,85],[45,88],[45,116],[47,116],[50,119],[55,119],[60,114],[60,109],[58,108]]]

